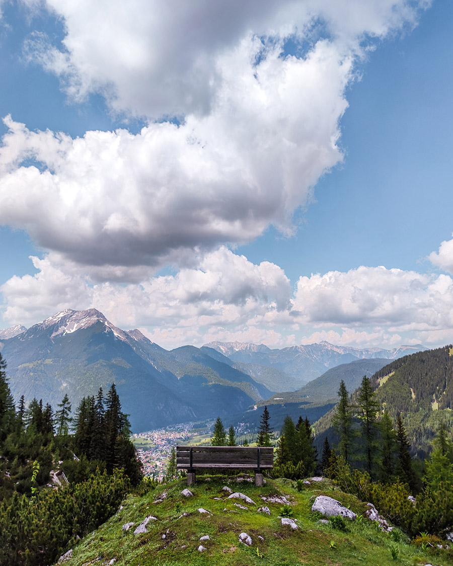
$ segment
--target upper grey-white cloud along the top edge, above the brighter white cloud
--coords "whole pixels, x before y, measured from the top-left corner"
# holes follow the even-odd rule
[[[41,0],[26,0],[31,6]],[[219,60],[250,33],[313,41],[314,30],[356,52],[364,36],[413,23],[429,0],[47,0],[66,29],[62,45],[42,35],[30,57],[55,72],[71,98],[101,92],[113,109],[158,117],[208,113],[221,88]],[[220,59],[219,59],[220,58]]]

